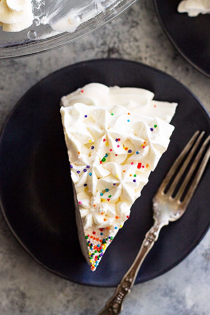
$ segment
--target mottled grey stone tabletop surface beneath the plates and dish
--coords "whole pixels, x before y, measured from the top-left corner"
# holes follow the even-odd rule
[[[64,66],[94,58],[141,61],[184,83],[210,112],[210,79],[173,48],[158,23],[152,0],[136,2],[94,33],[62,48],[0,61],[0,128],[19,98]],[[209,315],[210,232],[178,266],[135,285],[122,314]],[[0,314],[91,315],[114,288],[71,283],[39,266],[11,235],[0,213]]]

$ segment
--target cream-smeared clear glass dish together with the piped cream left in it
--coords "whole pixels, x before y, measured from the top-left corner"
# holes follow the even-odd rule
[[[0,0],[0,59],[71,43],[112,20],[135,1]],[[32,14],[24,9],[30,5]],[[12,20],[4,20],[11,12]]]

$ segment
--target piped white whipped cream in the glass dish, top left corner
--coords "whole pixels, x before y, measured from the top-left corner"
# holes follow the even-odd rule
[[[0,0],[0,26],[3,31],[19,32],[33,23],[30,0]]]

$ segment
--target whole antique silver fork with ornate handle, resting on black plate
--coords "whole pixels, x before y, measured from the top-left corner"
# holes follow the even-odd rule
[[[199,144],[201,143],[205,132],[202,131],[200,135],[199,133],[200,131],[195,132],[188,144],[184,147],[184,150],[180,153],[179,157],[173,163],[165,179],[162,181],[161,186],[159,187],[156,195],[153,198],[154,225],[146,233],[145,239],[141,245],[141,248],[139,249],[135,260],[133,261],[133,264],[123,276],[120,284],[118,284],[114,295],[107,301],[105,307],[97,315],[116,315],[122,311],[122,303],[124,301],[124,298],[133,287],[136,276],[139,272],[139,268],[142,265],[146,255],[149,253],[150,249],[157,240],[161,228],[165,225],[168,225],[169,222],[178,220],[184,214],[190,202],[190,199],[192,198],[192,195],[195,192],[196,187],[201,179],[201,176],[210,156],[210,147],[207,149],[210,139],[209,135],[200,147],[200,150],[193,160],[193,163],[184,180],[182,179],[182,176],[187,166],[189,165],[193,155],[195,154]],[[206,153],[204,155],[205,151]],[[201,160],[201,157],[203,155],[204,157]],[[180,167],[181,163],[182,166]],[[194,175],[197,166],[198,170],[196,172],[196,175]],[[177,173],[178,168],[179,171]],[[174,174],[176,174],[175,177]],[[192,175],[193,180],[189,185],[189,181]],[[176,192],[176,187],[179,185],[180,181],[182,181],[181,186]],[[170,187],[168,188],[168,186]],[[175,196],[173,196],[174,192],[176,192]],[[183,197],[184,192],[186,192],[186,194]]]

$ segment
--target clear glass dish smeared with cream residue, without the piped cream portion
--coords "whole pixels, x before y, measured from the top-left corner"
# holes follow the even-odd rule
[[[34,21],[29,28],[6,32],[0,27],[0,59],[28,56],[71,43],[109,22],[135,1],[32,0]],[[67,32],[62,20],[70,16],[77,25]]]

